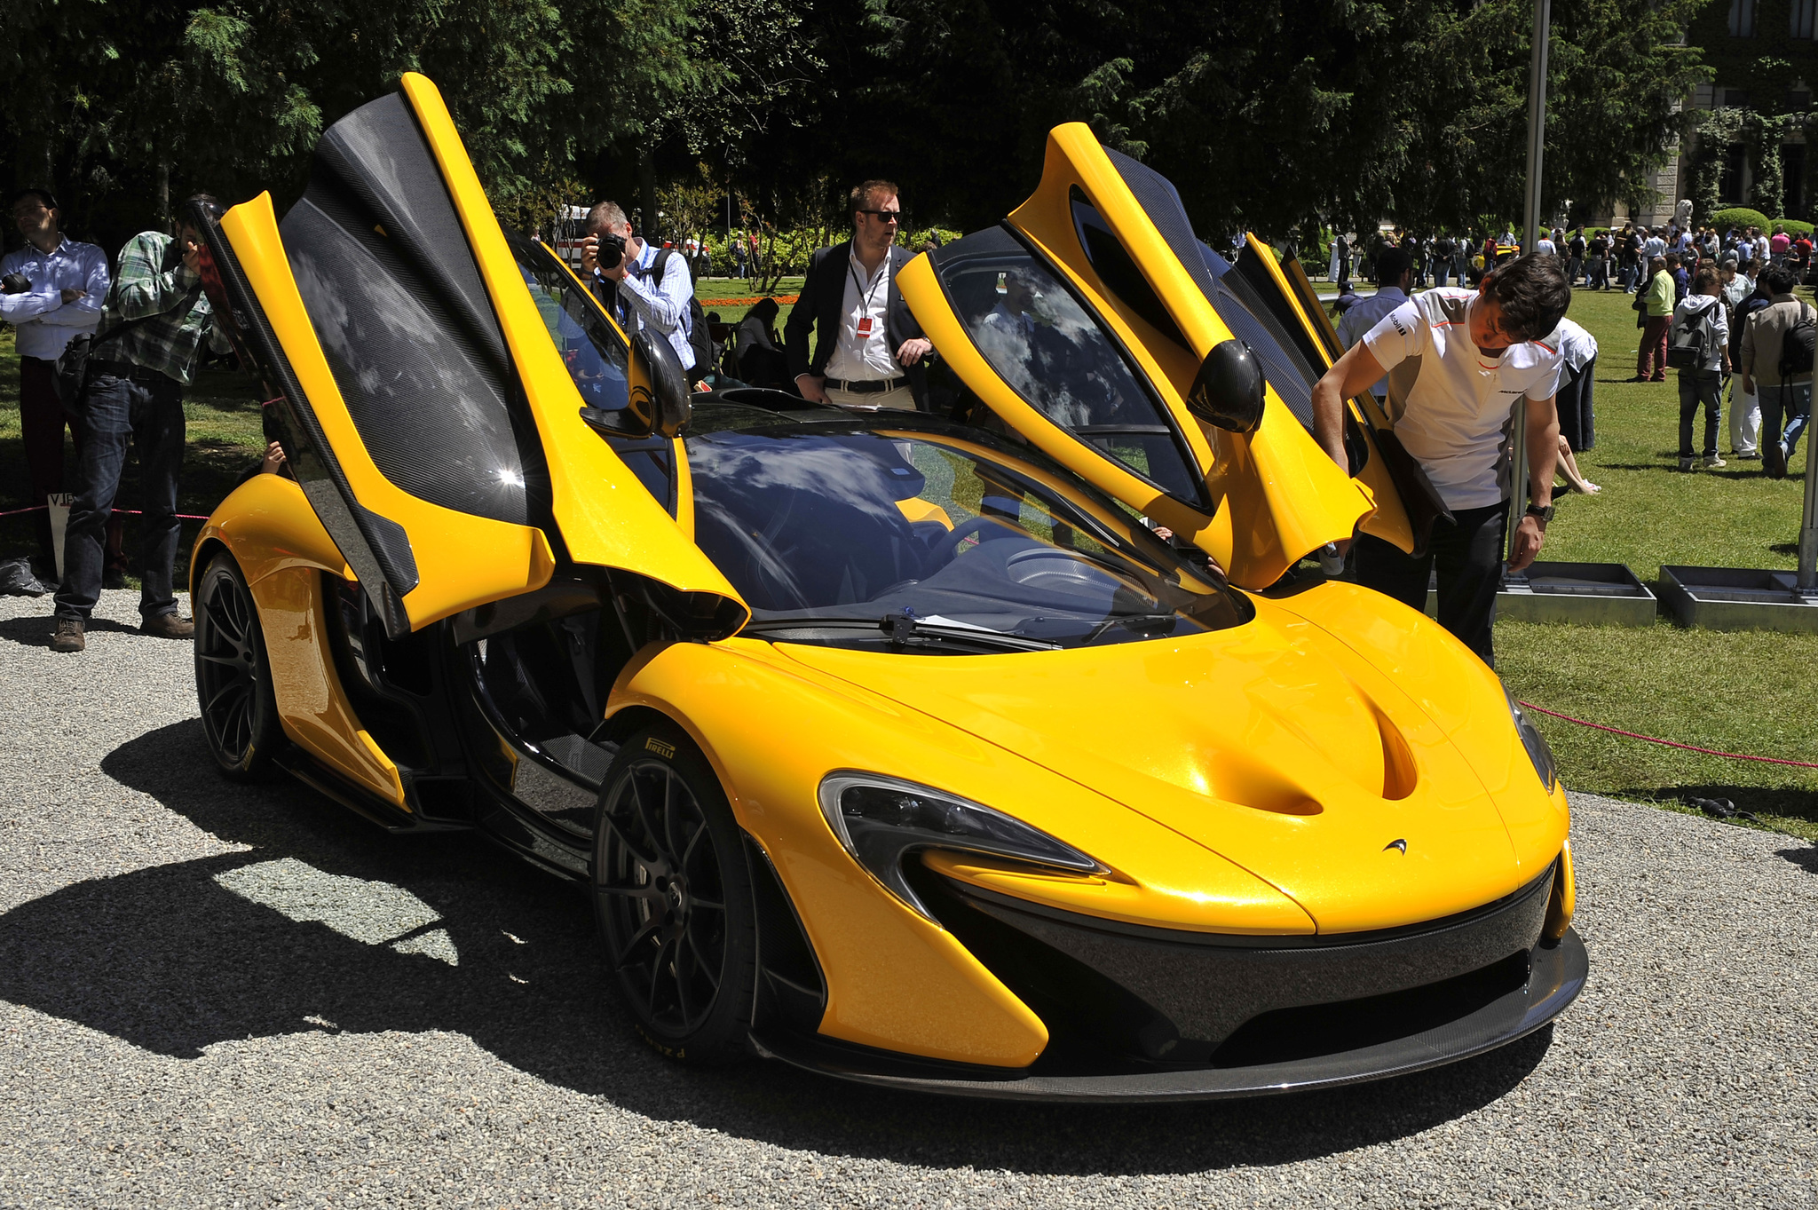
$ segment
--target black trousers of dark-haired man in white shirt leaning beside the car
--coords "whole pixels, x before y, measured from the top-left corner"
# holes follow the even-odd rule
[[[1440,574],[1440,625],[1496,667],[1491,629],[1496,623],[1496,589],[1502,587],[1502,549],[1509,534],[1509,501],[1483,509],[1453,509],[1453,523],[1433,523],[1425,558],[1409,558],[1382,538],[1360,534],[1358,583],[1393,596],[1409,609],[1427,607],[1427,580]]]

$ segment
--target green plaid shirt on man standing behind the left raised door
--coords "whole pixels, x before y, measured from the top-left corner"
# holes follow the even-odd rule
[[[162,273],[165,251],[173,242],[162,231],[142,231],[120,249],[120,265],[113,289],[107,291],[96,342],[105,340],[109,331],[127,320],[155,318],[107,340],[93,356],[100,362],[131,362],[155,369],[187,387],[202,338],[209,336],[209,345],[216,352],[227,352],[229,345],[215,331],[215,314],[207,294],[202,293],[202,278],[182,263]]]

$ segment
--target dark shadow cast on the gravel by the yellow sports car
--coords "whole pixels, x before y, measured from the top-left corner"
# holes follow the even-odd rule
[[[1522,1083],[1553,1036],[1549,1027],[1387,1083],[1184,1106],[953,1101],[782,1065],[682,1068],[636,1043],[613,1003],[585,898],[478,836],[395,838],[298,785],[229,785],[211,769],[198,721],[147,732],[102,769],[251,850],[76,883],[0,914],[0,997],[164,1056],[309,1030],[440,1030],[551,1085],[791,1150],[1165,1174],[1287,1163],[1427,1130]],[[433,927],[447,932],[458,965],[298,923],[229,888],[258,876],[247,867],[280,859],[407,890],[440,916]],[[358,932],[358,921],[338,923]]]

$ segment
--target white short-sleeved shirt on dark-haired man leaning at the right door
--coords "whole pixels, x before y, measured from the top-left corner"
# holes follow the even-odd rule
[[[1502,483],[1509,414],[1523,394],[1553,398],[1565,362],[1553,338],[1509,345],[1502,356],[1478,352],[1467,322],[1476,296],[1425,291],[1364,334],[1389,371],[1394,434],[1453,511],[1483,509],[1509,496]]]

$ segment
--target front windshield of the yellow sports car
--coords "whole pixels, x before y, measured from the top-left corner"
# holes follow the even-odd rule
[[[1249,603],[1060,469],[973,436],[769,423],[685,441],[747,634],[971,654],[1185,636]]]

